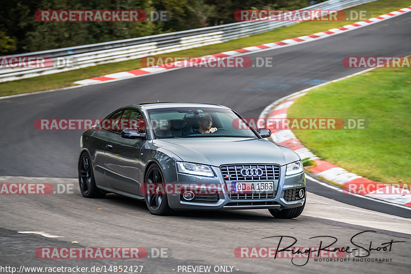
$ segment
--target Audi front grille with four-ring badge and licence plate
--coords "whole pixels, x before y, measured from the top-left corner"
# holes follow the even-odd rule
[[[244,169],[248,171],[241,173],[241,170]],[[259,164],[225,165],[221,166],[220,170],[226,184],[231,184],[232,182],[273,181],[275,186],[278,185],[275,183],[278,183],[279,180],[280,166]],[[276,191],[274,189],[273,192],[229,193],[229,197],[233,200],[271,199],[275,197]]]

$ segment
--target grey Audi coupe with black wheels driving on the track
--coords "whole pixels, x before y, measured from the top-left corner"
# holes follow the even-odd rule
[[[145,200],[155,215],[268,209],[275,218],[294,218],[306,202],[302,161],[264,139],[270,135],[226,106],[127,105],[81,136],[80,190],[90,198]]]

